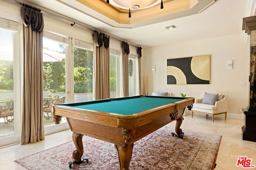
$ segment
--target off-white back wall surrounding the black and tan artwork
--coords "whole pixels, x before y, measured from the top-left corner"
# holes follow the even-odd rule
[[[228,113],[243,115],[239,108],[248,106],[250,86],[250,42],[245,42],[243,35],[172,43],[144,48],[143,52],[142,76],[148,76],[148,94],[167,91],[178,96],[181,91],[194,98],[203,98],[204,92],[228,94]],[[167,84],[167,59],[199,55],[211,55],[210,84]],[[232,70],[227,70],[228,60],[233,60]],[[155,73],[152,65],[156,65]]]

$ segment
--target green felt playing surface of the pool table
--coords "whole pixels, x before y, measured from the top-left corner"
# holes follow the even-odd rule
[[[118,113],[122,115],[132,115],[134,113],[138,113],[155,107],[179,102],[184,99],[186,98],[163,96],[132,96],[126,98],[115,98],[114,100],[106,99],[90,102],[77,102],[73,104],[66,104],[64,106],[104,111],[108,113]]]

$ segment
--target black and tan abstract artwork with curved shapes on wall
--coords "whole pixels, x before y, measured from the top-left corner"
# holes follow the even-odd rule
[[[167,84],[210,84],[210,55],[167,59]]]

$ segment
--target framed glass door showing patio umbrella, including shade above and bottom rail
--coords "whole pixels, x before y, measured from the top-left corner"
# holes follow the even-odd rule
[[[45,134],[55,133],[68,128],[66,119],[59,125],[52,119],[52,104],[67,102],[66,98],[66,54],[70,38],[44,31],[43,37],[43,111]],[[54,128],[52,128],[54,127]]]

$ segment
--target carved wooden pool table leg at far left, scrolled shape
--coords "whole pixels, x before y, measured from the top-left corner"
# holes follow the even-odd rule
[[[83,146],[83,142],[82,142],[82,137],[84,135],[81,135],[79,133],[75,133],[73,132],[72,133],[72,139],[73,139],[73,142],[76,146],[76,150],[73,151],[73,162],[75,163],[80,163],[82,162],[81,160],[81,157],[83,156],[84,154],[84,146]]]

